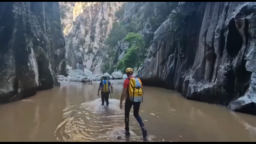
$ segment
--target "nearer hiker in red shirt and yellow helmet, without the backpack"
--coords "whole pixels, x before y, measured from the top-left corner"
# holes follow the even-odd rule
[[[125,105],[124,105],[124,111],[125,111],[125,114],[124,114],[125,128],[124,129],[125,129],[125,134],[128,135],[128,136],[130,135],[130,132],[129,132],[129,114],[130,114],[130,110],[131,110],[132,105],[133,105],[133,115],[136,118],[136,120],[138,121],[138,123],[140,124],[144,141],[147,141],[147,139],[146,139],[146,137],[147,137],[147,130],[145,128],[145,125],[142,122],[141,117],[139,116],[139,108],[140,108],[140,103],[141,102],[139,100],[137,100],[137,99],[134,99],[134,97],[133,97],[133,101],[132,101],[131,100],[132,97],[130,96],[130,94],[128,92],[130,79],[134,78],[132,76],[132,74],[133,74],[133,70],[131,68],[127,68],[126,69],[126,75],[127,75],[128,78],[125,79],[125,81],[124,81],[124,89],[123,89],[123,92],[122,92],[122,95],[121,95],[121,100],[120,100],[120,109],[122,110],[122,108],[123,108],[122,102],[124,100],[124,97],[127,94],[127,98],[125,100]],[[141,83],[140,80],[139,80],[139,82]],[[141,84],[141,88],[142,88],[142,84]]]

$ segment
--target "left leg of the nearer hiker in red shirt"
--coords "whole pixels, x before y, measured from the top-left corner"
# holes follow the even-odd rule
[[[127,98],[125,100],[125,104],[124,104],[124,123],[125,123],[125,134],[129,135],[129,115],[130,115],[130,110],[132,108],[132,104],[133,102]]]

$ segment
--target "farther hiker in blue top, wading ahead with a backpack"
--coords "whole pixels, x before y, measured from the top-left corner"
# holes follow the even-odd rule
[[[102,105],[104,105],[104,99],[106,100],[106,104],[108,106],[108,97],[110,93],[109,86],[111,87],[111,93],[113,93],[113,87],[111,86],[111,83],[107,81],[107,77],[103,77],[103,80],[100,82],[99,88],[98,88],[98,96],[101,89],[101,101]]]

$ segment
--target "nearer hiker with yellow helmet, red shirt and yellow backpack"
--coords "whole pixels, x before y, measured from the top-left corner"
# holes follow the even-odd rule
[[[140,103],[143,102],[143,92],[142,92],[142,83],[140,79],[135,78],[132,76],[133,70],[131,68],[126,69],[127,79],[124,81],[124,89],[121,95],[120,100],[120,109],[122,110],[123,105],[122,102],[124,100],[124,97],[126,97],[125,105],[124,105],[124,122],[125,122],[125,134],[130,135],[129,132],[129,114],[130,110],[133,105],[133,115],[140,124],[142,135],[144,141],[147,141],[147,130],[145,128],[145,125],[142,122],[142,119],[139,116],[139,108]]]

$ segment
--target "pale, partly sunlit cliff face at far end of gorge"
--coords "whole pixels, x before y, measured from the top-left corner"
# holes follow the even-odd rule
[[[66,61],[72,69],[84,68],[99,74],[104,51],[103,41],[107,35],[107,2],[85,6],[75,19],[74,26],[65,35]]]

